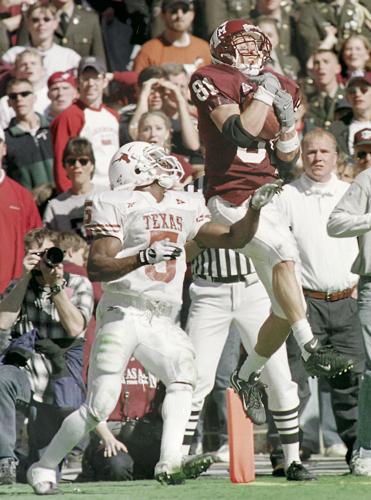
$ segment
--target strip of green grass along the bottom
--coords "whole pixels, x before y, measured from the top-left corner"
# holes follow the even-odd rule
[[[270,476],[253,483],[232,484],[227,478],[199,478],[182,486],[162,486],[155,481],[125,483],[62,483],[63,500],[369,500],[371,477],[321,476],[318,481],[290,483]],[[0,486],[1,498],[16,500],[37,497],[26,485]],[[50,497],[49,497],[50,498]]]

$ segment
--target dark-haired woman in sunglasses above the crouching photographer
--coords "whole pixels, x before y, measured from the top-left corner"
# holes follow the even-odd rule
[[[49,201],[43,221],[54,231],[75,231],[85,238],[84,203],[86,197],[96,191],[92,183],[95,158],[91,143],[84,137],[70,139],[62,161],[71,187]]]

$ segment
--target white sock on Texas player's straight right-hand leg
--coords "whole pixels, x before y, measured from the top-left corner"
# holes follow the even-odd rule
[[[160,461],[182,458],[182,442],[192,407],[192,387],[189,384],[170,384],[162,405],[164,421]]]

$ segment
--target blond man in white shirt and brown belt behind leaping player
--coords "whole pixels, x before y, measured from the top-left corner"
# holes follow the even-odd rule
[[[302,141],[304,173],[283,188],[276,207],[297,242],[307,315],[323,346],[333,346],[353,360],[350,372],[326,379],[331,387],[337,430],[347,447],[349,463],[356,439],[359,380],[364,348],[354,299],[357,277],[351,266],[357,240],[337,241],[327,235],[328,217],[349,184],[337,179],[335,137],[323,129]],[[313,241],[316,244],[313,245]]]

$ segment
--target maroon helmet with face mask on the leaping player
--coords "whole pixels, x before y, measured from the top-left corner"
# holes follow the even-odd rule
[[[225,21],[210,39],[213,63],[228,64],[246,76],[256,76],[261,72],[271,50],[269,38],[244,19]]]

